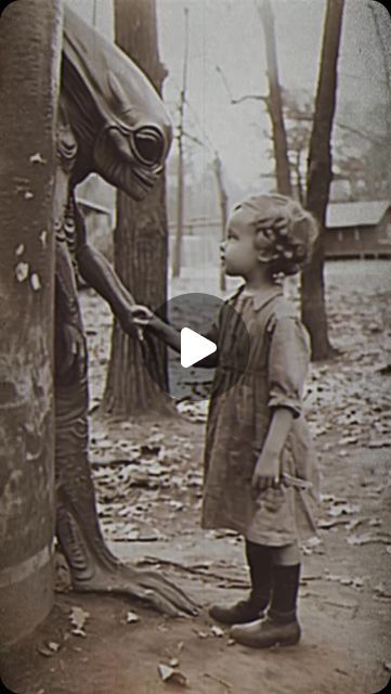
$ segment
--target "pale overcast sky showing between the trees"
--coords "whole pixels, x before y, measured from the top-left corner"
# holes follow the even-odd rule
[[[110,0],[67,0],[99,30],[113,36]],[[369,0],[370,1],[370,0]],[[381,31],[391,47],[390,17],[379,3]],[[219,65],[234,98],[266,94],[264,40],[255,0],[157,0],[159,50],[169,76],[165,99],[175,117],[182,82],[184,8],[190,15],[186,128],[217,149],[227,175],[243,189],[270,185],[260,174],[271,170],[266,152],[269,129],[259,101],[230,104]],[[279,81],[287,89],[314,93],[325,12],[324,0],[272,0],[275,15]],[[388,36],[387,36],[388,35]],[[338,103],[354,101],[360,113],[372,103],[387,103],[380,41],[367,0],[347,0],[339,59]],[[196,147],[197,168],[211,157]]]

